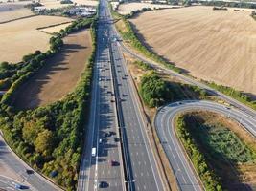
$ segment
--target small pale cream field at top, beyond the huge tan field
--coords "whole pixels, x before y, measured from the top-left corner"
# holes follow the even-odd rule
[[[179,7],[179,6],[133,2],[133,3],[120,4],[117,11],[120,14],[125,15],[130,13],[131,11],[142,10],[143,8],[159,9],[159,8],[175,8],[175,7]]]

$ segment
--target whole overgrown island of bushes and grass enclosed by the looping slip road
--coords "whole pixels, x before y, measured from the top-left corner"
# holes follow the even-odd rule
[[[256,175],[255,140],[239,138],[243,130],[238,127],[240,130],[234,133],[230,127],[237,124],[226,120],[207,112],[188,113],[175,120],[177,136],[206,190],[233,190],[238,186],[244,190],[243,177]]]

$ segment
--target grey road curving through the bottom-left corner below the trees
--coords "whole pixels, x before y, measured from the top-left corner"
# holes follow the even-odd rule
[[[53,184],[51,181],[46,180],[44,177],[40,176],[38,173],[27,174],[26,169],[31,169],[24,161],[19,159],[6,144],[2,135],[0,134],[0,166],[7,166],[12,169],[12,171],[19,177],[22,185],[27,185],[28,190],[38,190],[38,191],[57,191],[61,190]],[[13,190],[13,182],[18,181],[12,180],[9,177],[3,177],[0,172],[0,188],[5,188],[6,190]]]

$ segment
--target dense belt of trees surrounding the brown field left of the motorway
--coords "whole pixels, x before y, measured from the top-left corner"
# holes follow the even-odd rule
[[[47,63],[47,58],[61,52],[62,37],[91,28],[93,51],[76,89],[63,99],[35,110],[17,111],[12,100],[15,91]],[[15,65],[2,63],[1,87],[8,90],[0,104],[0,128],[16,154],[35,170],[66,190],[75,190],[81,160],[84,124],[88,116],[92,69],[96,49],[96,19],[79,19],[50,39],[51,49],[36,51]]]

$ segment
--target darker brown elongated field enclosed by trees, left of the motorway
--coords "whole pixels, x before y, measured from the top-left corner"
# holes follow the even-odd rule
[[[91,52],[89,30],[65,37],[63,50],[49,59],[46,66],[20,88],[14,105],[18,109],[31,109],[52,103],[72,92]]]

